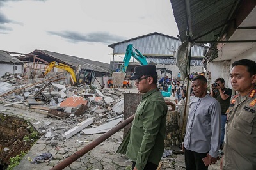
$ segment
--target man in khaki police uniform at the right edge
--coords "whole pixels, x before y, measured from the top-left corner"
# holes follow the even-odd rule
[[[227,110],[226,141],[221,169],[256,169],[256,63],[235,61],[231,84],[238,91]]]

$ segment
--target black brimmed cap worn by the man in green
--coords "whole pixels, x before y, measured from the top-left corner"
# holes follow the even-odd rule
[[[140,79],[142,75],[157,75],[155,65],[142,65],[134,68],[134,74],[130,77],[130,80]]]

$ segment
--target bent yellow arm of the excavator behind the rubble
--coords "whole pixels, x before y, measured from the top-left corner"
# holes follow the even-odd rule
[[[62,63],[57,63],[55,61],[49,63],[48,66],[45,68],[44,76],[47,75],[47,73],[51,72],[52,68],[54,68],[54,67],[60,68],[62,70],[66,70],[68,73],[70,73],[74,84],[77,83],[76,75],[74,73],[74,70],[68,65],[64,65]]]

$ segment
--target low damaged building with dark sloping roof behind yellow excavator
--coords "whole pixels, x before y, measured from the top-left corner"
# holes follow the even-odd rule
[[[108,77],[110,75],[109,64],[102,63],[99,61],[92,61],[90,59],[78,58],[76,56],[70,56],[66,54],[60,54],[57,52],[51,52],[47,50],[35,50],[29,53],[27,56],[20,56],[20,60],[24,62],[24,70],[26,72],[33,72],[34,75],[42,75],[47,67],[48,63],[56,62],[63,65],[70,66],[76,77],[79,76],[81,69],[88,71],[89,73],[94,72],[95,79],[94,84],[98,86],[103,86],[106,82],[103,81],[102,77]],[[55,73],[63,73],[65,69],[52,68]],[[69,74],[66,74],[68,76]],[[106,78],[107,79],[107,78]]]

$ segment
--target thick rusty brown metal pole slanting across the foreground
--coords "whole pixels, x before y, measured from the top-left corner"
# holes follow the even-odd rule
[[[132,116],[130,116],[129,118],[124,120],[122,123],[116,125],[116,127],[113,127],[111,130],[109,130],[105,134],[101,135],[100,137],[98,137],[97,139],[92,141],[92,143],[89,143],[88,145],[84,146],[84,148],[82,148],[81,150],[77,151],[70,157],[68,157],[65,160],[63,160],[62,162],[60,162],[60,164],[57,164],[56,166],[52,167],[51,170],[64,169],[65,167],[69,166],[70,164],[72,164],[72,162],[75,162],[78,158],[82,157],[88,151],[92,150],[93,148],[98,146],[100,143],[102,143],[103,141],[105,141],[106,139],[111,137],[111,135],[115,134],[120,129],[124,128],[126,125],[131,123],[134,116],[135,116],[135,114],[133,114]]]

